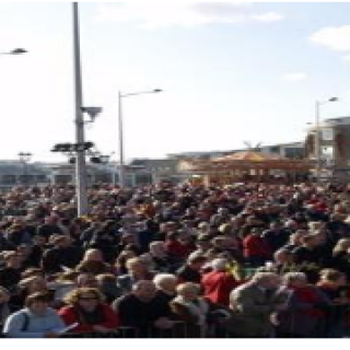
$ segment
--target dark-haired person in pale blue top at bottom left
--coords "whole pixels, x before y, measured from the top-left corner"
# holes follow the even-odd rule
[[[3,334],[9,338],[58,338],[66,326],[49,302],[47,293],[28,295],[25,307],[7,318]]]

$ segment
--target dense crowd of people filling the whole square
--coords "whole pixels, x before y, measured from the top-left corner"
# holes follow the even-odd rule
[[[96,184],[0,195],[8,338],[350,335],[350,186]]]

